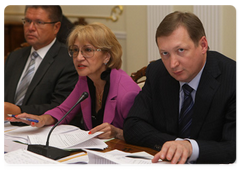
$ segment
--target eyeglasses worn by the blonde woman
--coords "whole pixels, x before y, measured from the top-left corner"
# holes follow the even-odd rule
[[[70,57],[76,58],[78,56],[79,51],[81,51],[81,54],[84,58],[91,58],[94,56],[95,51],[102,51],[101,49],[94,49],[92,46],[83,46],[80,50],[78,46],[71,45],[68,47],[68,54]]]

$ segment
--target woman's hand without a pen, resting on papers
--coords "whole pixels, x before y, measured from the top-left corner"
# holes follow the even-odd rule
[[[123,130],[109,123],[103,123],[101,125],[96,126],[95,128],[91,129],[89,133],[93,134],[95,132],[103,132],[102,134],[98,135],[98,138],[100,139],[117,138],[124,140]]]

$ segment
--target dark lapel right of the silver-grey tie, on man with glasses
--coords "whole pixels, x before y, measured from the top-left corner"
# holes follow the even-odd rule
[[[60,45],[61,44],[58,41],[56,41],[53,44],[53,46],[49,49],[49,51],[47,52],[46,56],[44,57],[41,64],[39,65],[32,81],[28,87],[23,104],[25,104],[28,101],[31,93],[37,86],[38,82],[41,81],[42,77],[44,76],[44,74],[46,73],[48,68],[51,66],[52,62],[55,60],[55,57],[57,56]]]

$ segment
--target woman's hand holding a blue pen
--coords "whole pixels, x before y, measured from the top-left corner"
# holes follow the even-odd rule
[[[32,127],[43,127],[45,125],[52,125],[56,122],[56,119],[54,119],[50,115],[37,116],[37,115],[23,113],[23,114],[16,115],[15,117],[16,118],[7,117],[7,120],[9,120],[10,122],[23,122],[23,123],[26,123],[28,125],[31,125]],[[21,118],[35,119],[35,120],[38,120],[38,123],[31,122],[31,121],[28,121],[28,120],[23,120]]]

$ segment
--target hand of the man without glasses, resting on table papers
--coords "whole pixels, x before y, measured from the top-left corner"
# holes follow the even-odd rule
[[[192,155],[192,145],[187,140],[176,140],[164,143],[160,152],[152,159],[156,163],[159,159],[171,161],[173,165],[184,165]]]

